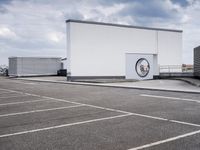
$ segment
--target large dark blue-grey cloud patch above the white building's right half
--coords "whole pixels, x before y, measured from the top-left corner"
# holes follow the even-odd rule
[[[169,8],[166,1],[133,0],[118,12],[121,17],[130,16],[137,25],[148,26],[154,22],[169,22],[179,17],[178,10]]]

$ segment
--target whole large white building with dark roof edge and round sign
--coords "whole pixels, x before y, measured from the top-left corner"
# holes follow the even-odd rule
[[[182,64],[181,30],[80,20],[66,24],[68,78],[151,79],[159,65]],[[136,66],[140,58],[147,62]],[[143,71],[146,76],[138,75]]]

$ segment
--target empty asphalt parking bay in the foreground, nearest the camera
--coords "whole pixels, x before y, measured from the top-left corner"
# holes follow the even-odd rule
[[[9,141],[15,141],[12,146],[16,149],[21,146],[15,143],[25,145],[26,149],[128,149],[195,130],[190,126],[127,116],[9,136],[0,141],[7,143],[5,149],[11,147]]]

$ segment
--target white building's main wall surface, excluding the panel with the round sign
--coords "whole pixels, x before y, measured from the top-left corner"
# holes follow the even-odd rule
[[[165,53],[173,51],[176,59],[172,63],[181,64],[178,32],[76,22],[68,22],[67,29],[67,70],[71,76],[125,76],[125,53],[159,52],[158,63],[162,65],[170,62],[171,56],[167,58]],[[167,38],[173,43],[165,43]]]

